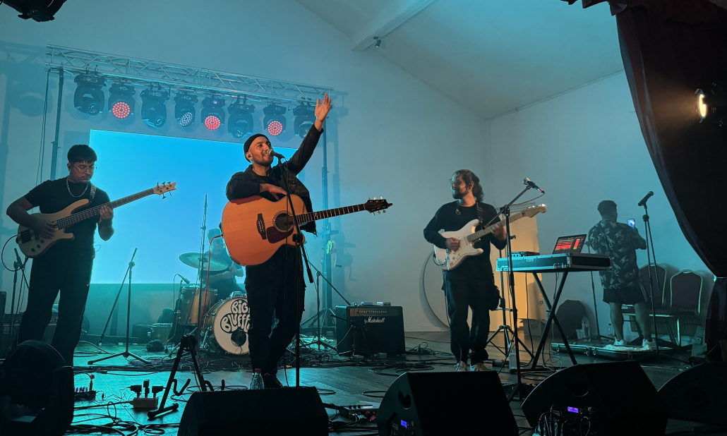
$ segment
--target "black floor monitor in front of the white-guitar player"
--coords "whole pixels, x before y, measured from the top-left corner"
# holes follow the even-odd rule
[[[381,436],[518,435],[497,372],[406,373],[384,395]]]

